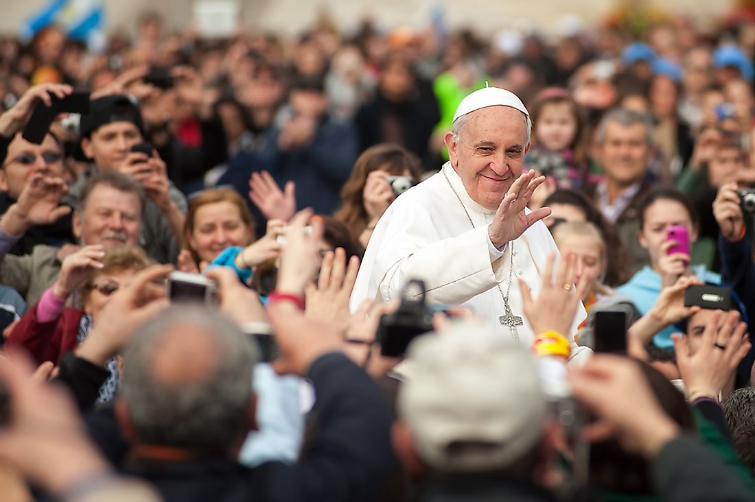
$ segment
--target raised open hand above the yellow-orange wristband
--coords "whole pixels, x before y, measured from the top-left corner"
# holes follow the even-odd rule
[[[543,285],[537,300],[532,300],[529,286],[522,279],[519,279],[519,290],[522,291],[525,316],[535,334],[556,331],[569,339],[569,330],[580,299],[584,297],[592,279],[584,274],[581,277],[577,275],[577,256],[568,254],[559,262],[554,283],[551,278],[555,260],[556,255],[551,253],[545,265]]]

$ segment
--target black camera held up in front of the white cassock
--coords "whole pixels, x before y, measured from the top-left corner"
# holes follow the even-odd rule
[[[419,290],[414,297],[409,294],[412,288]],[[401,357],[411,340],[428,331],[433,331],[433,313],[425,302],[424,282],[414,279],[402,291],[399,310],[381,317],[377,343],[383,356]]]

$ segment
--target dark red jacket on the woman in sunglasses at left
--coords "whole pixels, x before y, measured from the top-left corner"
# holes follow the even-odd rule
[[[37,364],[52,361],[58,364],[63,354],[76,348],[76,334],[83,310],[66,307],[60,317],[49,322],[37,320],[37,306],[27,310],[6,340],[8,346],[20,346],[31,354]]]

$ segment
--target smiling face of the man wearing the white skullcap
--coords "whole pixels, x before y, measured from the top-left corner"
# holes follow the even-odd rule
[[[474,202],[498,209],[522,174],[527,143],[525,115],[510,106],[488,106],[465,116],[458,139],[445,136],[451,165]]]

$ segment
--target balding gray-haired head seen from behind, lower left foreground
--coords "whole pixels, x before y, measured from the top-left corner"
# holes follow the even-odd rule
[[[259,354],[229,319],[174,306],[125,351],[122,398],[136,440],[195,454],[231,454],[249,428]]]

